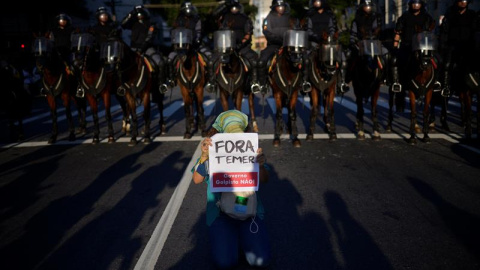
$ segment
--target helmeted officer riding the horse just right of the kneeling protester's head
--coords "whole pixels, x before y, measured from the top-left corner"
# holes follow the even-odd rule
[[[273,0],[270,12],[263,21],[263,35],[267,39],[267,47],[260,53],[257,65],[258,79],[262,92],[267,92],[268,61],[283,46],[283,34],[290,29],[290,5],[283,0]],[[308,82],[308,57],[304,57],[302,91],[310,92],[312,87]]]

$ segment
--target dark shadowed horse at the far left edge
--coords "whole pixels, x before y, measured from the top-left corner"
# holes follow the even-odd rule
[[[32,96],[23,86],[23,75],[7,60],[0,61],[2,96],[0,108],[5,111],[12,141],[23,141],[23,118],[32,110]],[[18,126],[15,126],[18,122]]]

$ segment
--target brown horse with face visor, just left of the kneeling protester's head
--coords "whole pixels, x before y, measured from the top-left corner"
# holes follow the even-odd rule
[[[205,110],[203,108],[203,95],[205,85],[205,60],[203,56],[192,47],[192,31],[179,27],[172,31],[172,45],[177,52],[173,63],[177,85],[180,87],[184,102],[185,133],[184,139],[192,138],[194,127],[194,105],[197,112],[197,125],[202,137],[207,134],[205,124]]]

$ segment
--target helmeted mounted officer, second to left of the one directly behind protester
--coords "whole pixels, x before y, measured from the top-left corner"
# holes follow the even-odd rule
[[[164,61],[161,55],[153,47],[153,39],[157,34],[155,24],[150,23],[150,13],[143,6],[136,6],[121,22],[123,29],[129,29],[132,32],[130,47],[139,54],[145,54],[147,58],[153,60],[157,69],[157,78],[159,82],[159,91],[166,89],[162,83],[165,81],[163,71]],[[122,85],[118,89],[118,94],[124,93],[125,87]]]

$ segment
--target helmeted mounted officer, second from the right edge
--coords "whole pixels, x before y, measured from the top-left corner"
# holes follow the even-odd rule
[[[395,26],[393,38],[394,53],[392,55],[392,87],[396,88],[399,87],[399,84],[407,83],[406,69],[412,52],[413,35],[418,31],[433,31],[434,28],[435,20],[426,11],[425,2],[423,0],[409,0],[407,12],[398,18]],[[401,68],[400,72],[399,67]],[[433,87],[434,91],[441,89],[441,84],[436,78]],[[400,98],[397,98],[397,102],[397,111],[403,112],[405,108],[405,91],[400,92]]]

